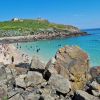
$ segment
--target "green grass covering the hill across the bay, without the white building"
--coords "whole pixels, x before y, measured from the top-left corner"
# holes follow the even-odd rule
[[[50,23],[48,20],[31,20],[31,19],[23,19],[21,22],[19,21],[4,21],[0,22],[0,31],[18,31],[21,32],[21,35],[28,35],[28,34],[35,34],[35,32],[40,31],[40,30],[67,30],[67,31],[72,31],[72,30],[78,30],[78,28],[70,25],[62,25],[62,24],[55,24],[55,23]],[[8,34],[8,33],[7,33]],[[6,35],[7,35],[6,34]],[[0,32],[0,36],[3,36],[4,33]],[[14,34],[14,35],[17,35]],[[20,34],[18,34],[20,35]]]

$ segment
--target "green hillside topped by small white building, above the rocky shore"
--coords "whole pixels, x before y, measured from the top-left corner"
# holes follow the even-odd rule
[[[45,19],[18,19],[14,18],[11,21],[0,22],[0,37],[4,36],[26,36],[38,33],[56,33],[65,32],[78,33],[77,27],[71,25],[62,25],[50,23]]]

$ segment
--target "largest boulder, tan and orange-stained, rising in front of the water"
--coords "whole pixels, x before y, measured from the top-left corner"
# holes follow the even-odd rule
[[[77,46],[65,46],[47,63],[46,71],[68,78],[75,90],[83,89],[88,80],[88,55]]]

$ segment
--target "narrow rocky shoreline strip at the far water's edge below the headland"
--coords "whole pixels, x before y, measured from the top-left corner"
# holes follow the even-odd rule
[[[12,36],[12,37],[0,37],[0,43],[16,43],[16,42],[31,42],[39,40],[52,40],[58,38],[70,38],[77,36],[89,35],[87,32],[78,32],[78,33],[50,33],[50,34],[37,34],[37,35],[28,35],[28,36]]]

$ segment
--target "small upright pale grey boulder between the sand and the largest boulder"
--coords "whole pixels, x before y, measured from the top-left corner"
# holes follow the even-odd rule
[[[33,56],[31,60],[31,68],[36,70],[43,70],[45,69],[45,64],[40,61],[37,56]]]

